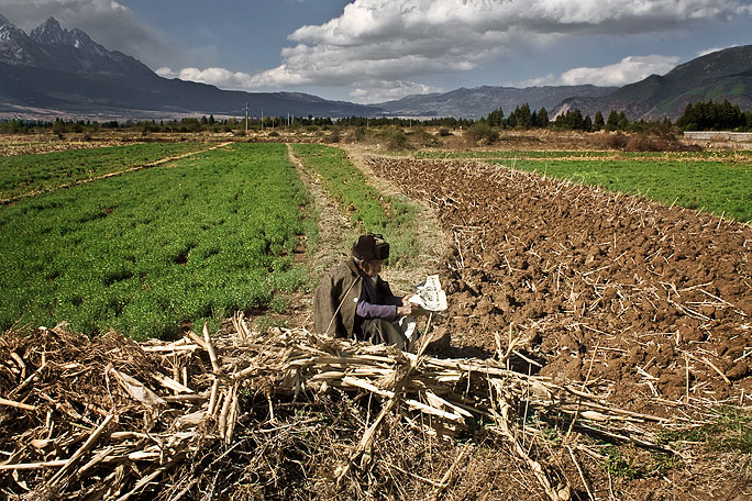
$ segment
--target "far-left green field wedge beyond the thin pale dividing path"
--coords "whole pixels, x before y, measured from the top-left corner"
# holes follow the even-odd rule
[[[200,143],[146,143],[0,157],[0,200],[206,148]]]

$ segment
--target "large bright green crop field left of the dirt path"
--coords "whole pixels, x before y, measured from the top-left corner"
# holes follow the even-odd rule
[[[2,207],[0,329],[164,337],[274,304],[308,280],[307,197],[285,145],[236,144]]]

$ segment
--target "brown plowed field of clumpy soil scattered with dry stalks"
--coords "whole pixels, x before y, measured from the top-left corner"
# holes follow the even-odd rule
[[[511,332],[531,370],[598,380],[634,411],[752,403],[750,226],[499,166],[368,163],[453,241],[442,329],[455,355],[490,355]]]

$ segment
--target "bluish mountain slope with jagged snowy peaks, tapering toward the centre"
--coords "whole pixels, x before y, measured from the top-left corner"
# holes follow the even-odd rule
[[[162,78],[137,59],[108,51],[51,18],[30,35],[0,15],[0,113],[20,116],[259,115],[351,116],[374,107],[299,92],[242,92]]]

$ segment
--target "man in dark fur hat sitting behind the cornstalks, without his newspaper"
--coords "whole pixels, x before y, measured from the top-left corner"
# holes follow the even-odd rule
[[[392,294],[389,285],[378,276],[389,257],[389,244],[381,235],[361,235],[353,244],[352,255],[330,270],[316,290],[316,331],[405,349],[408,339],[396,321],[417,313],[420,307],[409,301],[412,294]]]

